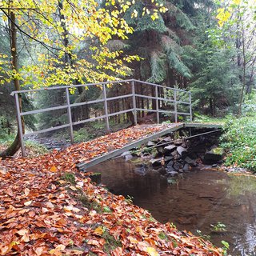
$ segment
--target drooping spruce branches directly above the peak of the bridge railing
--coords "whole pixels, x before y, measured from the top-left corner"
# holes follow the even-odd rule
[[[149,17],[142,17],[142,2],[134,5],[138,10],[137,18],[130,18],[129,14],[125,16],[126,22],[135,31],[129,40],[128,53],[138,54],[143,58],[140,64],[134,63],[132,66],[136,70],[135,77],[168,86],[180,84],[184,87],[183,78],[191,77],[190,69],[182,60],[182,47],[195,28],[191,10],[187,11],[184,7],[186,2],[162,1],[168,11],[153,22]],[[194,9],[194,2],[191,6]]]

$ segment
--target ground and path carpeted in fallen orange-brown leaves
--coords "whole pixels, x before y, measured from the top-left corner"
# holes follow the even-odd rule
[[[34,158],[0,160],[0,255],[222,255],[108,192],[76,164],[166,126],[134,126]]]

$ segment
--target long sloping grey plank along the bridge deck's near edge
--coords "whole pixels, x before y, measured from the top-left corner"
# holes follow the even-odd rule
[[[163,135],[169,134],[172,131],[184,128],[184,126],[185,126],[184,123],[179,123],[176,126],[167,128],[166,130],[159,131],[155,134],[147,136],[146,138],[141,138],[136,142],[132,142],[132,143],[126,145],[126,146],[123,146],[122,149],[111,151],[107,154],[103,154],[103,155],[99,156],[98,158],[93,158],[93,159],[90,160],[90,162],[80,163],[80,164],[77,165],[78,170],[86,170],[87,168],[89,168],[91,166],[95,166],[100,162],[104,162],[106,160],[109,160],[110,158],[114,158],[114,157],[122,154],[123,152],[131,150],[134,147],[141,146],[142,144],[146,144],[146,142],[149,142],[149,141],[154,140],[156,138],[162,137]]]

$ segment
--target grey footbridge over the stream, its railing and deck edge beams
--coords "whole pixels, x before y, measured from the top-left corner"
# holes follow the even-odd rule
[[[123,90],[125,93],[117,96],[110,96],[108,94],[108,90],[111,86],[122,86],[126,87],[126,90]],[[94,100],[90,100],[87,102],[71,102],[70,101],[70,92],[78,87],[85,87],[86,90],[91,86],[97,86],[102,89],[102,94],[99,98]],[[150,95],[142,94],[142,90],[140,90],[140,86],[150,87]],[[38,110],[31,111],[23,111],[20,107],[19,97],[21,94],[38,94],[45,90],[65,90],[66,94],[66,103],[62,106],[52,106],[49,108],[43,108]],[[149,91],[149,90],[147,90]],[[154,134],[148,134],[144,138],[139,138],[135,142],[130,142],[129,144],[123,146],[121,149],[112,150],[107,154],[103,154],[102,156],[98,156],[96,158],[90,159],[90,162],[80,163],[78,165],[79,169],[86,169],[90,166],[94,166],[99,162],[106,161],[107,159],[114,158],[115,156],[122,154],[123,152],[130,150],[134,147],[141,146],[150,140],[154,140],[155,138],[159,138],[165,134],[169,134],[174,132],[175,130],[180,130],[184,128],[192,128],[192,127],[202,127],[202,128],[221,128],[219,125],[203,125],[203,124],[194,124],[192,123],[192,100],[190,91],[180,90],[177,88],[170,88],[168,86],[161,86],[158,84],[150,83],[150,82],[142,82],[139,80],[122,80],[122,81],[114,81],[114,82],[101,82],[101,83],[90,83],[85,85],[76,85],[76,86],[53,86],[36,90],[21,90],[14,91],[11,93],[15,97],[16,109],[17,109],[17,117],[18,117],[18,133],[19,138],[22,145],[22,155],[26,155],[24,138],[27,136],[31,136],[34,134],[42,134],[54,130],[60,130],[63,128],[68,128],[70,131],[70,142],[74,142],[74,126],[85,124],[86,122],[94,122],[96,120],[104,120],[106,123],[106,130],[110,131],[110,118],[118,115],[127,115],[128,113],[132,114],[134,125],[136,126],[138,123],[138,112],[144,112],[145,114],[154,113],[155,123],[159,125],[161,118],[164,116],[165,119],[173,118],[174,122],[169,125],[162,126],[162,128],[158,129],[158,132]],[[34,95],[34,97],[36,97]],[[144,98],[147,100],[148,104],[146,107],[139,106],[138,99]],[[129,108],[125,110],[121,110],[118,112],[110,112],[109,104],[112,101],[126,99],[129,102],[127,106]],[[90,106],[91,104],[101,103],[102,104],[102,114],[97,117],[89,117],[86,119],[73,121],[72,114],[75,111],[75,107],[78,106]],[[45,113],[47,111],[53,110],[66,110],[67,122],[60,126],[49,127],[43,130],[35,130],[33,132],[22,132],[22,118],[26,115],[30,114],[39,114]],[[178,122],[179,117],[182,116],[182,120],[186,122]]]

